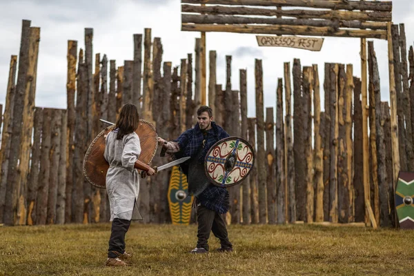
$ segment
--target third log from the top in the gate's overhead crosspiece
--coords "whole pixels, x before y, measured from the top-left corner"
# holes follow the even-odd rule
[[[272,25],[296,25],[330,28],[357,28],[386,30],[386,22],[360,22],[346,20],[328,19],[286,19],[286,18],[265,18],[265,17],[237,17],[233,15],[212,15],[212,14],[181,14],[182,23],[197,24],[272,24]],[[202,36],[201,36],[202,39]]]

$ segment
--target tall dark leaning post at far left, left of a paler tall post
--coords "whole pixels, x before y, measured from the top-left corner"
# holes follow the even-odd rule
[[[30,57],[30,21],[23,20],[21,27],[21,43],[19,54],[19,72],[17,75],[16,93],[14,95],[14,107],[12,115],[12,135],[14,143],[10,144],[10,155],[6,182],[6,202],[4,206],[3,223],[6,225],[17,224],[17,206],[21,189],[21,171],[24,164],[19,164],[21,149],[23,112],[25,108],[26,77],[28,77]],[[28,149],[25,149],[28,150]]]

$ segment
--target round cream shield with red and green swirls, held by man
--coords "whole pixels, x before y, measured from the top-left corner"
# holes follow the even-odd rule
[[[255,163],[253,147],[240,137],[221,139],[208,150],[206,175],[216,186],[230,187],[242,182]]]

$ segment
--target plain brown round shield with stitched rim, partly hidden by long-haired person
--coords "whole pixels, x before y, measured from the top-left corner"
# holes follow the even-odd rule
[[[114,128],[115,125],[112,125],[102,130],[92,141],[83,158],[83,175],[90,184],[98,188],[106,188],[106,172],[108,171],[109,164],[103,158],[103,152],[105,152],[106,135]],[[158,135],[155,127],[148,121],[140,119],[139,126],[135,132],[137,132],[141,143],[139,161],[150,165],[158,147]]]

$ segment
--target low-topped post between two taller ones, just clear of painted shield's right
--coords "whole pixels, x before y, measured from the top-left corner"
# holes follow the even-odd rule
[[[279,88],[279,86],[277,86]],[[266,108],[266,189],[268,224],[276,223],[276,179],[275,179],[275,120],[273,108]],[[277,183],[279,185],[279,183]]]

